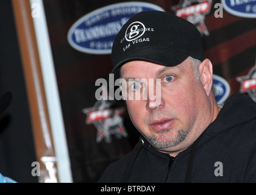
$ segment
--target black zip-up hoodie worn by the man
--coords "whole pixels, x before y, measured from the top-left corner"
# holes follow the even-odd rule
[[[232,94],[201,137],[175,158],[142,138],[99,182],[256,182],[256,103]]]

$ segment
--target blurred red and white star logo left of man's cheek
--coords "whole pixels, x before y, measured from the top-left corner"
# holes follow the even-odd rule
[[[104,94],[107,96],[107,94]],[[92,108],[84,108],[83,113],[87,115],[86,124],[94,124],[97,132],[96,142],[103,139],[106,143],[112,141],[112,135],[120,139],[128,134],[123,125],[122,115],[126,112],[126,107],[118,105],[117,101],[101,100],[97,101]]]

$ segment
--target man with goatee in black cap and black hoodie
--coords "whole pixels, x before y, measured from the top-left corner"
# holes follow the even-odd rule
[[[256,104],[243,94],[216,104],[212,63],[193,24],[140,12],[116,36],[112,61],[142,137],[99,182],[256,182]]]

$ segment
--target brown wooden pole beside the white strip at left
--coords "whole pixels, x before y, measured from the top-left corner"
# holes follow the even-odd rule
[[[29,0],[12,0],[12,5],[29,98],[35,151],[40,165],[40,172],[34,172],[34,174],[36,173],[35,176],[40,174],[39,182],[58,182],[56,158],[30,2]]]

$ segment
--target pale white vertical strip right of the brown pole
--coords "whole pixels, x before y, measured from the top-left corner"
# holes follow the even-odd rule
[[[46,101],[52,130],[52,139],[57,158],[57,174],[59,176],[59,182],[71,183],[73,182],[73,179],[68,155],[68,146],[66,143],[62,108],[60,106],[59,90],[57,88],[57,80],[55,77],[54,62],[52,59],[51,44],[49,41],[43,1],[30,0],[30,8],[32,8],[33,4],[37,5],[35,9],[38,9],[37,11],[39,11],[37,12],[38,17],[34,17],[33,22],[35,27],[35,35],[37,38],[41,71],[43,74],[44,90],[46,93]],[[32,9],[32,11],[35,10]]]

